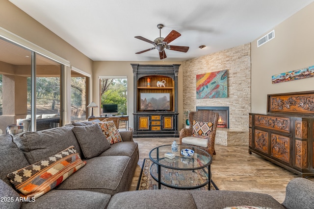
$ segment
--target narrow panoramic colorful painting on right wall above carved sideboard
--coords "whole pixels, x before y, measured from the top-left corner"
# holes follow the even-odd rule
[[[272,83],[275,84],[310,77],[314,77],[314,66],[294,71],[283,72],[278,75],[273,75],[271,76],[271,80]]]

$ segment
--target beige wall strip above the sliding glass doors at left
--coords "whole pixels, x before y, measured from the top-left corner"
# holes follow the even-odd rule
[[[72,66],[92,74],[92,60],[8,0],[0,0],[0,27],[70,61]]]

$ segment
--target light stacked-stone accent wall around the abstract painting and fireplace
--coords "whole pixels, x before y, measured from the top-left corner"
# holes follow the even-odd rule
[[[196,99],[196,75],[220,70],[228,70],[228,98]],[[195,111],[197,106],[229,107],[229,128],[248,131],[250,74],[250,44],[184,61],[183,110]]]

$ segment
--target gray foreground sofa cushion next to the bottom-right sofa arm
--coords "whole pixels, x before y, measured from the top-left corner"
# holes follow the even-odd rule
[[[231,206],[259,206],[272,209],[285,209],[268,194],[245,191],[197,191],[191,190],[197,208],[222,209]]]

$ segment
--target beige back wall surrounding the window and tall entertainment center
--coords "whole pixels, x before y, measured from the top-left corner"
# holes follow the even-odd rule
[[[179,129],[183,120],[183,67],[182,62],[137,62],[137,61],[95,61],[93,71],[93,99],[96,104],[99,105],[99,76],[127,76],[128,77],[128,116],[129,125],[133,128],[133,70],[131,64],[142,64],[142,65],[172,65],[181,64],[178,75],[178,99],[179,99]],[[99,110],[94,113],[95,116],[99,116]]]

